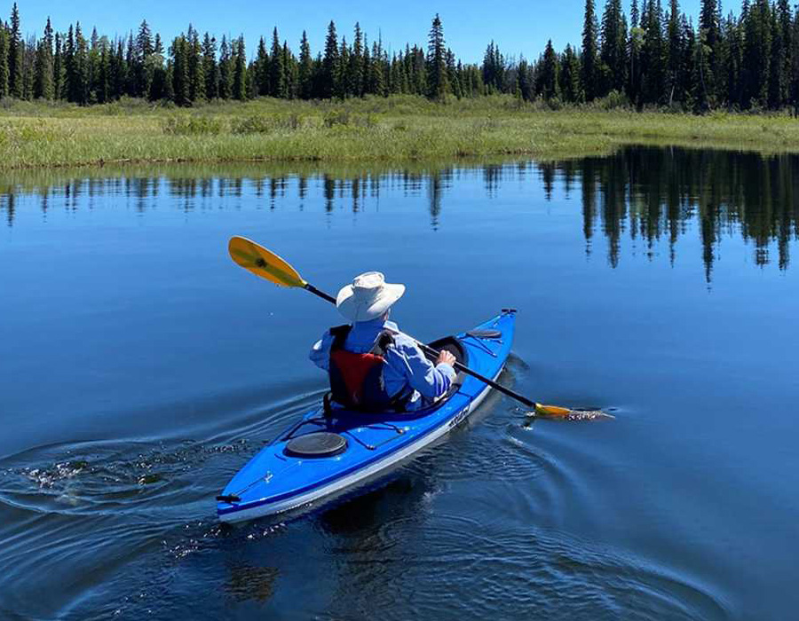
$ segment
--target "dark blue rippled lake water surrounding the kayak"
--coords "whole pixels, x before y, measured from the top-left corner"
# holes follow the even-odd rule
[[[0,178],[0,617],[787,619],[799,591],[799,158],[630,148],[415,169]],[[506,385],[386,487],[222,528],[321,396],[334,293],[432,339],[518,308]]]

